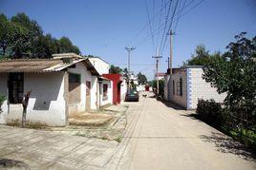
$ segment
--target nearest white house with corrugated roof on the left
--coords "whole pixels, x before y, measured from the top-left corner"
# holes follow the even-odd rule
[[[99,74],[92,63],[78,55],[56,54],[50,60],[8,60],[0,62],[0,123],[20,120],[22,98],[32,95],[27,120],[62,126],[73,113],[99,106]]]

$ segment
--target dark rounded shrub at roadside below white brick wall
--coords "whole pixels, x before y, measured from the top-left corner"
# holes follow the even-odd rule
[[[214,100],[204,101],[200,99],[198,101],[197,114],[203,122],[214,126],[220,126],[224,122],[222,106]]]

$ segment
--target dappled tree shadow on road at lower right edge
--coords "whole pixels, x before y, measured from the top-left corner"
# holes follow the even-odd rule
[[[245,159],[246,161],[256,160],[255,155],[253,155],[249,149],[245,148],[242,143],[235,141],[234,139],[224,135],[223,133],[211,132],[210,136],[201,135],[200,139],[202,139],[203,142],[215,143],[215,147],[217,147],[217,150],[224,154],[234,154],[240,158]]]

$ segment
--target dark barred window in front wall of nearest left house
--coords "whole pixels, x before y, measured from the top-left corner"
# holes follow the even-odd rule
[[[21,104],[24,93],[24,74],[10,73],[8,88],[10,104]]]

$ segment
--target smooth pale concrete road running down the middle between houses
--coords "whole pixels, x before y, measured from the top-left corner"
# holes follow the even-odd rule
[[[109,169],[256,169],[255,160],[216,129],[153,98],[132,103]]]

